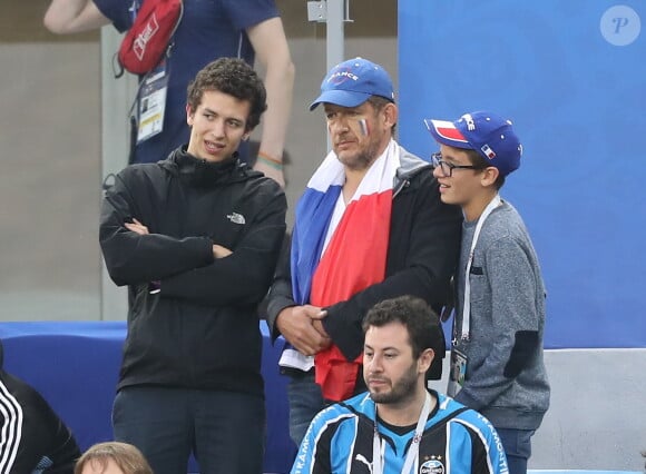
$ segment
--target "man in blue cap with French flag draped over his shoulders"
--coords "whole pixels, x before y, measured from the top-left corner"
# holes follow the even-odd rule
[[[362,320],[374,304],[414,295],[450,298],[460,210],[443,205],[432,167],[393,139],[388,72],[362,58],[336,65],[310,109],[323,105],[332,151],[295,213],[291,251],[271,289],[267,319],[287,343],[290,429],[298,444],[330,402],[364,389]],[[442,354],[431,366],[439,378]]]

